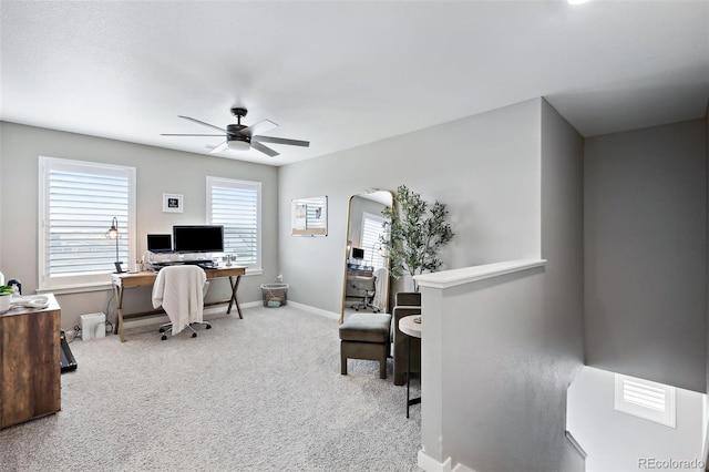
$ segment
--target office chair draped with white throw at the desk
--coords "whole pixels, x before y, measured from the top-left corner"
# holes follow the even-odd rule
[[[167,314],[169,322],[161,325],[162,339],[172,328],[173,336],[183,329],[189,329],[192,337],[197,337],[194,325],[203,325],[210,329],[212,325],[203,320],[204,296],[208,289],[207,276],[196,265],[177,265],[163,267],[157,273],[153,285],[153,308],[161,306]]]

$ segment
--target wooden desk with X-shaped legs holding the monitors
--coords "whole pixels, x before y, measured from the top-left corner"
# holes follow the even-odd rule
[[[232,287],[232,297],[229,298],[229,307],[226,312],[232,312],[232,307],[236,305],[236,310],[239,314],[239,318],[244,319],[242,316],[242,308],[239,307],[239,301],[236,298],[236,290],[239,288],[239,281],[242,280],[242,276],[246,274],[245,267],[219,267],[217,269],[204,269],[204,273],[207,276],[207,280],[213,278],[229,278],[229,286]],[[157,278],[157,274],[153,271],[142,271],[142,273],[123,273],[123,274],[112,274],[113,279],[113,288],[115,289],[115,298],[116,298],[116,324],[114,334],[121,335],[121,342],[125,342],[125,335],[123,332],[123,289],[130,287],[144,287],[152,286]],[[225,301],[226,302],[226,301]]]

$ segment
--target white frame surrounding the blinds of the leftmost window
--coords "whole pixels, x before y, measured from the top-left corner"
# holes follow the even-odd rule
[[[95,175],[111,175],[127,178],[127,227],[120,228],[121,239],[126,240],[129,260],[122,260],[129,269],[131,260],[135,259],[135,167],[127,167],[112,164],[101,164],[88,161],[72,161],[58,157],[39,156],[39,201],[38,201],[38,291],[81,291],[84,289],[105,289],[111,284],[111,273],[115,270],[112,264],[106,266],[104,271],[92,273],[70,273],[51,275],[49,271],[49,242],[50,242],[50,173],[52,171],[70,171]],[[103,235],[111,227],[114,215],[106,215],[105,229]]]

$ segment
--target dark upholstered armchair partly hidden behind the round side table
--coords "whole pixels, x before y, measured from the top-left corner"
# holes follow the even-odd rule
[[[395,295],[394,308],[391,312],[391,339],[394,363],[394,384],[403,386],[407,373],[407,335],[399,330],[399,320],[405,316],[421,315],[421,294],[418,291],[400,291]],[[421,339],[411,338],[411,371],[421,371]]]

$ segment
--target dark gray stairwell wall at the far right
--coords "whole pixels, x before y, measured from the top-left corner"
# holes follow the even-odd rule
[[[588,138],[584,178],[586,363],[706,391],[705,121]]]

